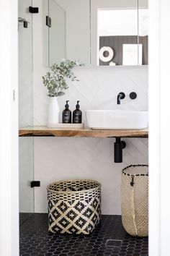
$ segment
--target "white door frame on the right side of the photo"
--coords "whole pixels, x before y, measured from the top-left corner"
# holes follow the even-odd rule
[[[149,0],[149,255],[170,255],[170,1]]]

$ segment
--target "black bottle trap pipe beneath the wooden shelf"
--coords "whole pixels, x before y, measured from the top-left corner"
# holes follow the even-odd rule
[[[122,163],[122,149],[126,147],[126,142],[121,140],[120,137],[116,137],[114,143],[114,161],[115,163]]]

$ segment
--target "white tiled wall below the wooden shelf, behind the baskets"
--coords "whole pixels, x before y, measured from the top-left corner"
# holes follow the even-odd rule
[[[47,211],[46,189],[61,179],[95,179],[102,183],[102,213],[121,214],[120,174],[132,163],[148,163],[148,140],[125,139],[123,163],[113,161],[114,138],[35,138],[35,212]]]

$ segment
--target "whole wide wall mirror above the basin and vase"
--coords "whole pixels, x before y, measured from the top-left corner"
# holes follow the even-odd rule
[[[45,6],[49,66],[61,59],[148,64],[148,0],[45,0]]]

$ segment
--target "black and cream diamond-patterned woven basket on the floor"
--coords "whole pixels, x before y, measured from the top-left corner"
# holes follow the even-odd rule
[[[66,180],[48,185],[48,231],[90,234],[100,221],[101,184]]]

